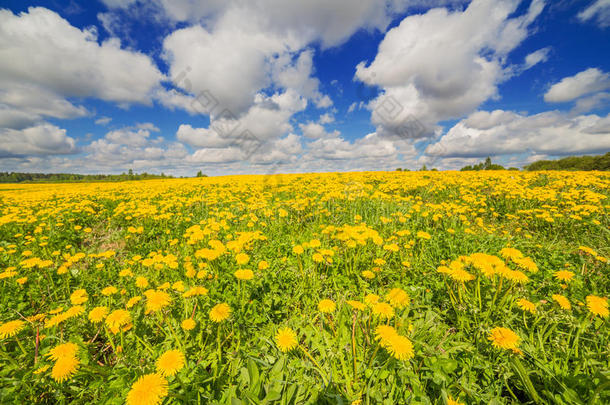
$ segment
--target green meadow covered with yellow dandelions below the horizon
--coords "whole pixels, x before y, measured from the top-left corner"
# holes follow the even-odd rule
[[[0,403],[610,403],[610,175],[0,186]]]

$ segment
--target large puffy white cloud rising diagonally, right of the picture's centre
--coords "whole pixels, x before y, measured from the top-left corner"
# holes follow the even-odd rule
[[[396,132],[409,116],[432,128],[497,97],[497,85],[511,74],[508,53],[544,7],[534,0],[525,14],[509,18],[519,3],[474,0],[464,11],[437,8],[408,16],[388,31],[373,62],[356,69],[358,80],[383,90],[369,104],[383,109],[372,114],[377,131]],[[389,113],[383,107],[388,97],[397,102]]]

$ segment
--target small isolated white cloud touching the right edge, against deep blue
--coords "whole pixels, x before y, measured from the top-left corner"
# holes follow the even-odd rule
[[[586,94],[603,91],[610,88],[610,73],[604,73],[597,68],[589,68],[574,76],[564,77],[555,83],[545,93],[544,100],[561,103],[575,100]]]

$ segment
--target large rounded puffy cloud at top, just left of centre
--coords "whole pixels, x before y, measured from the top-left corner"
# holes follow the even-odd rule
[[[262,17],[229,9],[210,28],[194,25],[174,31],[163,43],[174,84],[184,91],[161,92],[163,105],[212,119],[227,110],[245,114],[267,88],[294,91],[319,108],[332,100],[313,77],[313,51],[302,38],[279,35]],[[194,97],[193,97],[194,96]]]

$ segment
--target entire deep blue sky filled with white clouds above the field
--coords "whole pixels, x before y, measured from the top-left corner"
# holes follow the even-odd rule
[[[522,167],[610,150],[610,1],[8,1],[0,170]]]

